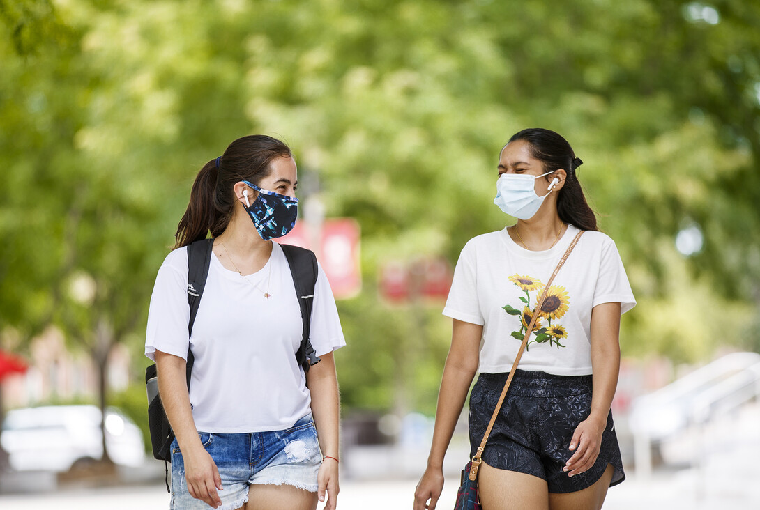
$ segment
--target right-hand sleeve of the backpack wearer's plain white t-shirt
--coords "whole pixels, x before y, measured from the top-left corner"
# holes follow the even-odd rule
[[[317,356],[328,354],[346,345],[343,328],[337,314],[335,298],[330,288],[330,282],[318,265],[319,273],[314,288],[314,303],[312,304],[312,322],[309,326],[309,340],[312,342]]]

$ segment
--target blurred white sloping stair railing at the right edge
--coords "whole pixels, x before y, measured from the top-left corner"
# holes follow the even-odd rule
[[[760,354],[736,352],[636,398],[629,425],[637,476],[651,474],[651,448],[688,427],[707,423],[760,397]]]

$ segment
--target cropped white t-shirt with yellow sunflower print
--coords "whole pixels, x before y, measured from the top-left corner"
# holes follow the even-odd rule
[[[523,323],[524,312],[536,307],[544,284],[577,233],[570,225],[545,251],[519,246],[506,228],[479,235],[464,246],[443,314],[483,326],[480,372],[511,370],[530,323],[530,313]],[[546,313],[539,317],[518,367],[562,376],[591,374],[591,309],[616,302],[622,313],[636,304],[620,255],[607,235],[587,231],[549,288],[542,307]],[[543,337],[536,334],[541,328],[546,328]]]

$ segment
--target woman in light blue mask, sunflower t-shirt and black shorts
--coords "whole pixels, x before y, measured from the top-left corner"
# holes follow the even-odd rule
[[[477,478],[485,510],[598,510],[625,479],[610,407],[620,315],[635,299],[614,242],[586,203],[579,165],[567,140],[546,129],[520,131],[499,153],[493,203],[517,221],[470,239],[454,269],[443,310],[453,321],[451,348],[414,510],[436,508],[443,457],[477,373],[470,456],[487,436]]]

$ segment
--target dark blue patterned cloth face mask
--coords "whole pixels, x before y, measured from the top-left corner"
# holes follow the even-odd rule
[[[293,225],[296,225],[298,199],[264,190],[249,181],[243,182],[258,191],[258,197],[253,203],[249,203],[248,196],[245,196],[245,210],[251,216],[261,239],[268,241],[281,238],[290,232]]]

